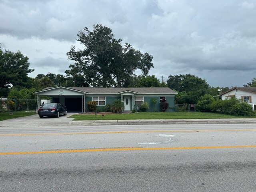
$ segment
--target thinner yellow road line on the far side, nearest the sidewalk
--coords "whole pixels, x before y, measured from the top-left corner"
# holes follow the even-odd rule
[[[83,135],[83,134],[118,134],[118,133],[156,133],[156,132],[228,132],[256,131],[256,129],[226,129],[226,130],[158,130],[158,131],[110,131],[110,132],[80,132],[80,133],[36,133],[36,134],[0,134],[0,136],[38,136],[38,135]]]

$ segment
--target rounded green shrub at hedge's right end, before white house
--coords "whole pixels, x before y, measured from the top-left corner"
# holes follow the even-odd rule
[[[232,106],[230,114],[234,116],[254,116],[254,111],[248,103],[237,103]]]

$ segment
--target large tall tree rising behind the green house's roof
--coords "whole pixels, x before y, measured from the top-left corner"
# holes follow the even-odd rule
[[[122,46],[122,40],[115,39],[110,28],[100,24],[93,28],[90,31],[85,27],[77,34],[83,50],[72,46],[67,53],[68,58],[74,61],[65,71],[68,76],[73,79],[82,76],[90,86],[122,87],[136,70],[141,70],[146,76],[154,67],[153,56],[147,52],[142,54],[128,43]]]

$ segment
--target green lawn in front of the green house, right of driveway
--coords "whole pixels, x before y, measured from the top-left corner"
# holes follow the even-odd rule
[[[72,115],[74,120],[128,120],[128,119],[218,119],[218,118],[255,118],[253,117],[236,117],[218,113],[202,112],[139,112],[130,114],[78,114]]]

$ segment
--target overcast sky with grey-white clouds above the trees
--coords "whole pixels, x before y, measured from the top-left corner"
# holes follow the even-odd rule
[[[190,73],[231,87],[256,78],[254,0],[0,0],[0,18],[2,49],[28,56],[31,77],[65,74],[78,31],[102,24],[151,54],[160,80]]]

